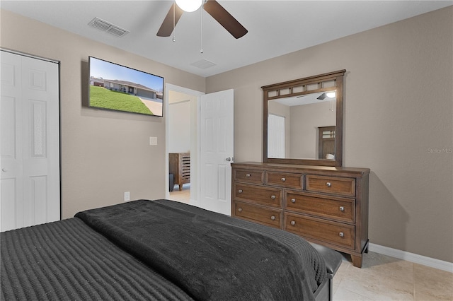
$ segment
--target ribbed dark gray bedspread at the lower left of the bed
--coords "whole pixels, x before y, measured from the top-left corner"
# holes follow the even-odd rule
[[[0,237],[1,300],[191,300],[79,218]]]

